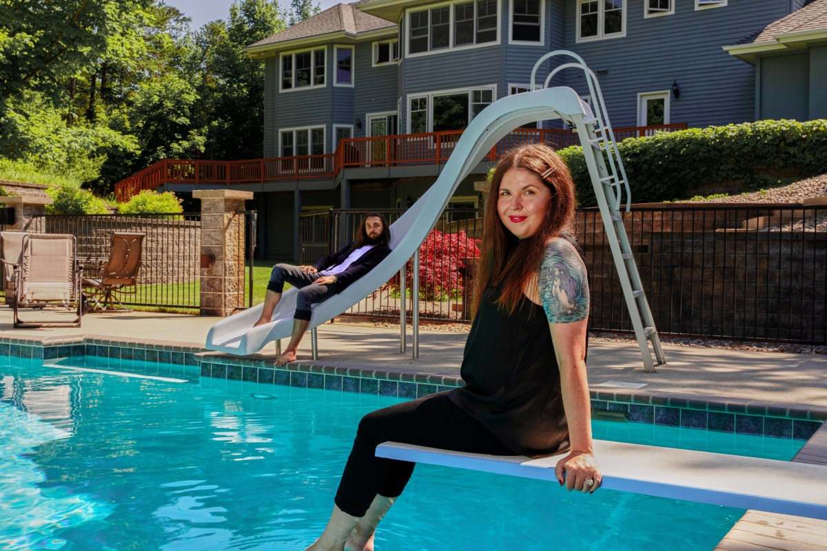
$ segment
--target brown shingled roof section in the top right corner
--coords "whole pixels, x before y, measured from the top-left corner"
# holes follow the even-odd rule
[[[803,49],[810,44],[821,43],[827,43],[827,0],[812,0],[800,10],[770,23],[738,44],[724,46],[724,50],[754,64],[758,54]]]

